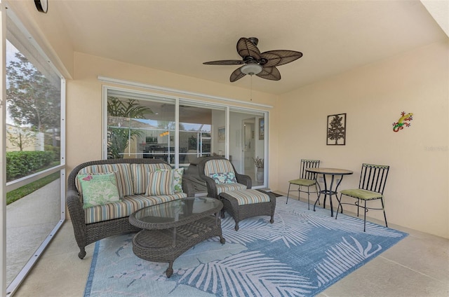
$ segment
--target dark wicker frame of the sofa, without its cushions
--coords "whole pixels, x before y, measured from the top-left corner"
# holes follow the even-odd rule
[[[100,221],[97,223],[86,223],[85,209],[83,209],[83,202],[76,188],[76,174],[84,167],[91,165],[108,165],[118,163],[129,164],[159,164],[163,163],[170,166],[163,160],[156,159],[109,159],[109,160],[95,160],[91,162],[82,163],[74,168],[67,179],[67,207],[69,209],[70,219],[72,220],[74,235],[76,243],[79,247],[79,258],[86,256],[85,247],[88,244],[121,233],[137,232],[140,229],[132,226],[128,221],[128,216],[119,219],[111,219],[107,221]],[[194,196],[194,187],[187,181],[182,179],[182,191],[187,193],[187,196]]]

